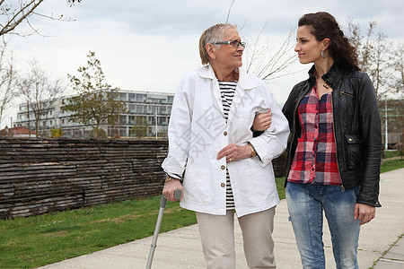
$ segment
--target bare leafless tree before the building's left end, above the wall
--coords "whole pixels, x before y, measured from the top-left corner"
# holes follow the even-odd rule
[[[28,125],[31,127],[31,116],[34,120],[36,136],[44,133],[48,121],[48,113],[65,91],[60,80],[52,81],[49,76],[31,61],[31,70],[18,82],[22,101],[27,107]],[[42,123],[42,126],[40,124]],[[41,129],[42,127],[42,129]]]

